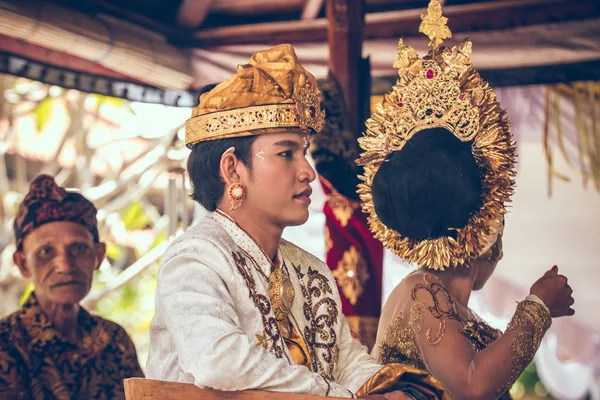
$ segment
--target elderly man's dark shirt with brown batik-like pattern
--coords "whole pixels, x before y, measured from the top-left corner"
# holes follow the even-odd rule
[[[65,340],[35,294],[0,321],[0,398],[123,399],[123,379],[143,377],[119,325],[81,309],[78,343]]]

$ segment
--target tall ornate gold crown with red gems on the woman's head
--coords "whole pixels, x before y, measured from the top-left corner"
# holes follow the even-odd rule
[[[365,168],[358,192],[371,231],[384,246],[421,267],[443,270],[467,265],[489,247],[486,237],[496,233],[506,213],[504,205],[514,191],[516,145],[496,94],[471,65],[471,41],[467,38],[452,48],[440,46],[452,33],[439,0],[430,1],[421,19],[419,31],[429,37],[431,49],[420,59],[402,39],[398,42],[394,67],[399,79],[377,104],[364,137],[358,139],[364,152],[357,163]],[[456,229],[457,239],[415,240],[381,222],[373,203],[373,178],[392,152],[401,151],[419,131],[436,127],[471,142],[482,170],[482,206],[464,227]]]

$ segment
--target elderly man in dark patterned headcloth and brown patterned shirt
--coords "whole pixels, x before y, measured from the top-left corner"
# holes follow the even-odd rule
[[[0,398],[118,399],[142,377],[125,330],[79,302],[105,254],[96,208],[41,175],[14,222],[15,264],[35,291],[0,320]]]

